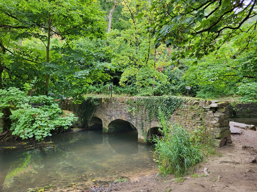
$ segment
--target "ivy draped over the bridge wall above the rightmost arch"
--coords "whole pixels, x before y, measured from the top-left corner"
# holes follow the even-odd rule
[[[159,97],[138,97],[133,102],[132,99],[127,100],[128,112],[133,115],[140,113],[143,109],[148,113],[147,121],[152,121],[153,118],[159,118],[160,109],[165,117],[170,118],[173,112],[181,106],[182,100],[174,96],[159,96]]]

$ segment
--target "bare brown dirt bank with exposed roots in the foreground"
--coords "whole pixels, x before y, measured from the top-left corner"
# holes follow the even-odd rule
[[[101,183],[95,182],[90,188],[78,184],[65,189],[53,191],[73,192],[167,192],[167,191],[257,191],[257,163],[249,163],[256,157],[243,145],[257,150],[257,131],[242,129],[242,134],[232,135],[233,144],[218,150],[219,154],[209,157],[197,165],[194,173],[187,175],[183,182],[176,182],[172,176],[162,178],[157,172],[146,173],[140,177],[129,177],[127,182]],[[252,150],[253,150],[252,149]],[[256,157],[257,158],[257,157]],[[209,175],[200,170],[208,169]],[[219,178],[219,179],[218,179]]]

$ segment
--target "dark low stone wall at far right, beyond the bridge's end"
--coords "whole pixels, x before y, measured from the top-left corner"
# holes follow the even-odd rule
[[[257,117],[257,106],[254,103],[228,104],[229,117]]]

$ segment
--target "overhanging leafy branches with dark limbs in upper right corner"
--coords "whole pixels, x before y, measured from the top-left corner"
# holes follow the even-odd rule
[[[154,22],[148,27],[155,31],[155,45],[180,46],[174,60],[201,58],[243,30],[243,24],[256,15],[256,0],[154,1],[150,10],[155,10]],[[251,37],[256,24],[244,29]]]

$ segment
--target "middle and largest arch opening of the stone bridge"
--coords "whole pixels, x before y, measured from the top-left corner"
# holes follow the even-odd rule
[[[115,119],[108,125],[108,133],[122,132],[136,129],[130,122],[122,119]]]

